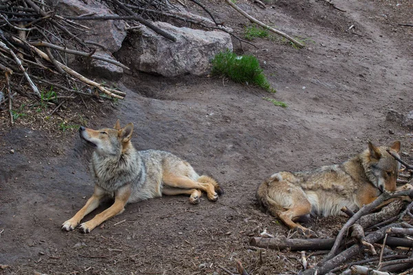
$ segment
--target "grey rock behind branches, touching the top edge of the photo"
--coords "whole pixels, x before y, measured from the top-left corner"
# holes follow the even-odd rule
[[[82,14],[116,15],[105,5],[94,0],[50,0],[53,8],[62,16],[78,17]],[[111,52],[117,52],[126,37],[125,23],[121,20],[77,21],[91,30],[81,34],[85,41],[93,41],[104,45]],[[95,46],[96,47],[96,46]]]

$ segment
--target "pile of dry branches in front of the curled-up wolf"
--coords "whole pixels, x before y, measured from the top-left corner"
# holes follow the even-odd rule
[[[401,177],[406,179],[398,181],[411,182],[413,166],[403,162],[391,151],[388,152],[405,166],[405,172],[401,174]],[[251,239],[251,244],[260,248],[277,250],[328,251],[322,261],[308,269],[306,269],[306,264],[304,265],[306,259],[304,254],[302,263],[305,271],[301,274],[327,274],[343,270],[342,274],[390,275],[390,272],[402,272],[403,270],[407,271],[401,274],[412,274],[413,237],[410,236],[413,235],[413,203],[405,208],[406,203],[402,199],[411,201],[413,189],[408,189],[407,186],[405,186],[406,190],[384,192],[356,213],[344,208],[343,212],[346,212],[350,219],[343,225],[335,239],[287,239],[285,236],[268,238],[266,234],[267,236],[254,237]],[[378,208],[381,208],[381,211],[377,212]],[[379,253],[376,251],[378,243]],[[388,248],[385,248],[386,246]],[[361,256],[365,250],[372,256],[362,261],[352,260]]]

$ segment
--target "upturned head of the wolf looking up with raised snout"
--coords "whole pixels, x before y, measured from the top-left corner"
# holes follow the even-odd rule
[[[119,120],[114,129],[104,128],[99,130],[79,128],[79,135],[88,144],[95,148],[95,152],[101,156],[118,156],[129,148],[134,124],[129,123],[121,128]]]

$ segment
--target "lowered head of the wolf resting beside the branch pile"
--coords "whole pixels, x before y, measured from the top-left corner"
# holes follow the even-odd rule
[[[368,142],[368,149],[361,154],[364,170],[368,179],[383,192],[396,191],[396,179],[399,177],[400,164],[390,155],[390,149],[396,155],[400,152],[400,142],[396,141],[388,147],[377,147]]]

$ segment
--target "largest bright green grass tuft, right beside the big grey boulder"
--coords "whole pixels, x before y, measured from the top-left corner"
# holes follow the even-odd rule
[[[226,76],[237,83],[257,85],[266,91],[275,93],[275,89],[271,88],[262,72],[263,69],[255,56],[237,56],[230,50],[218,53],[212,61],[211,74]]]

